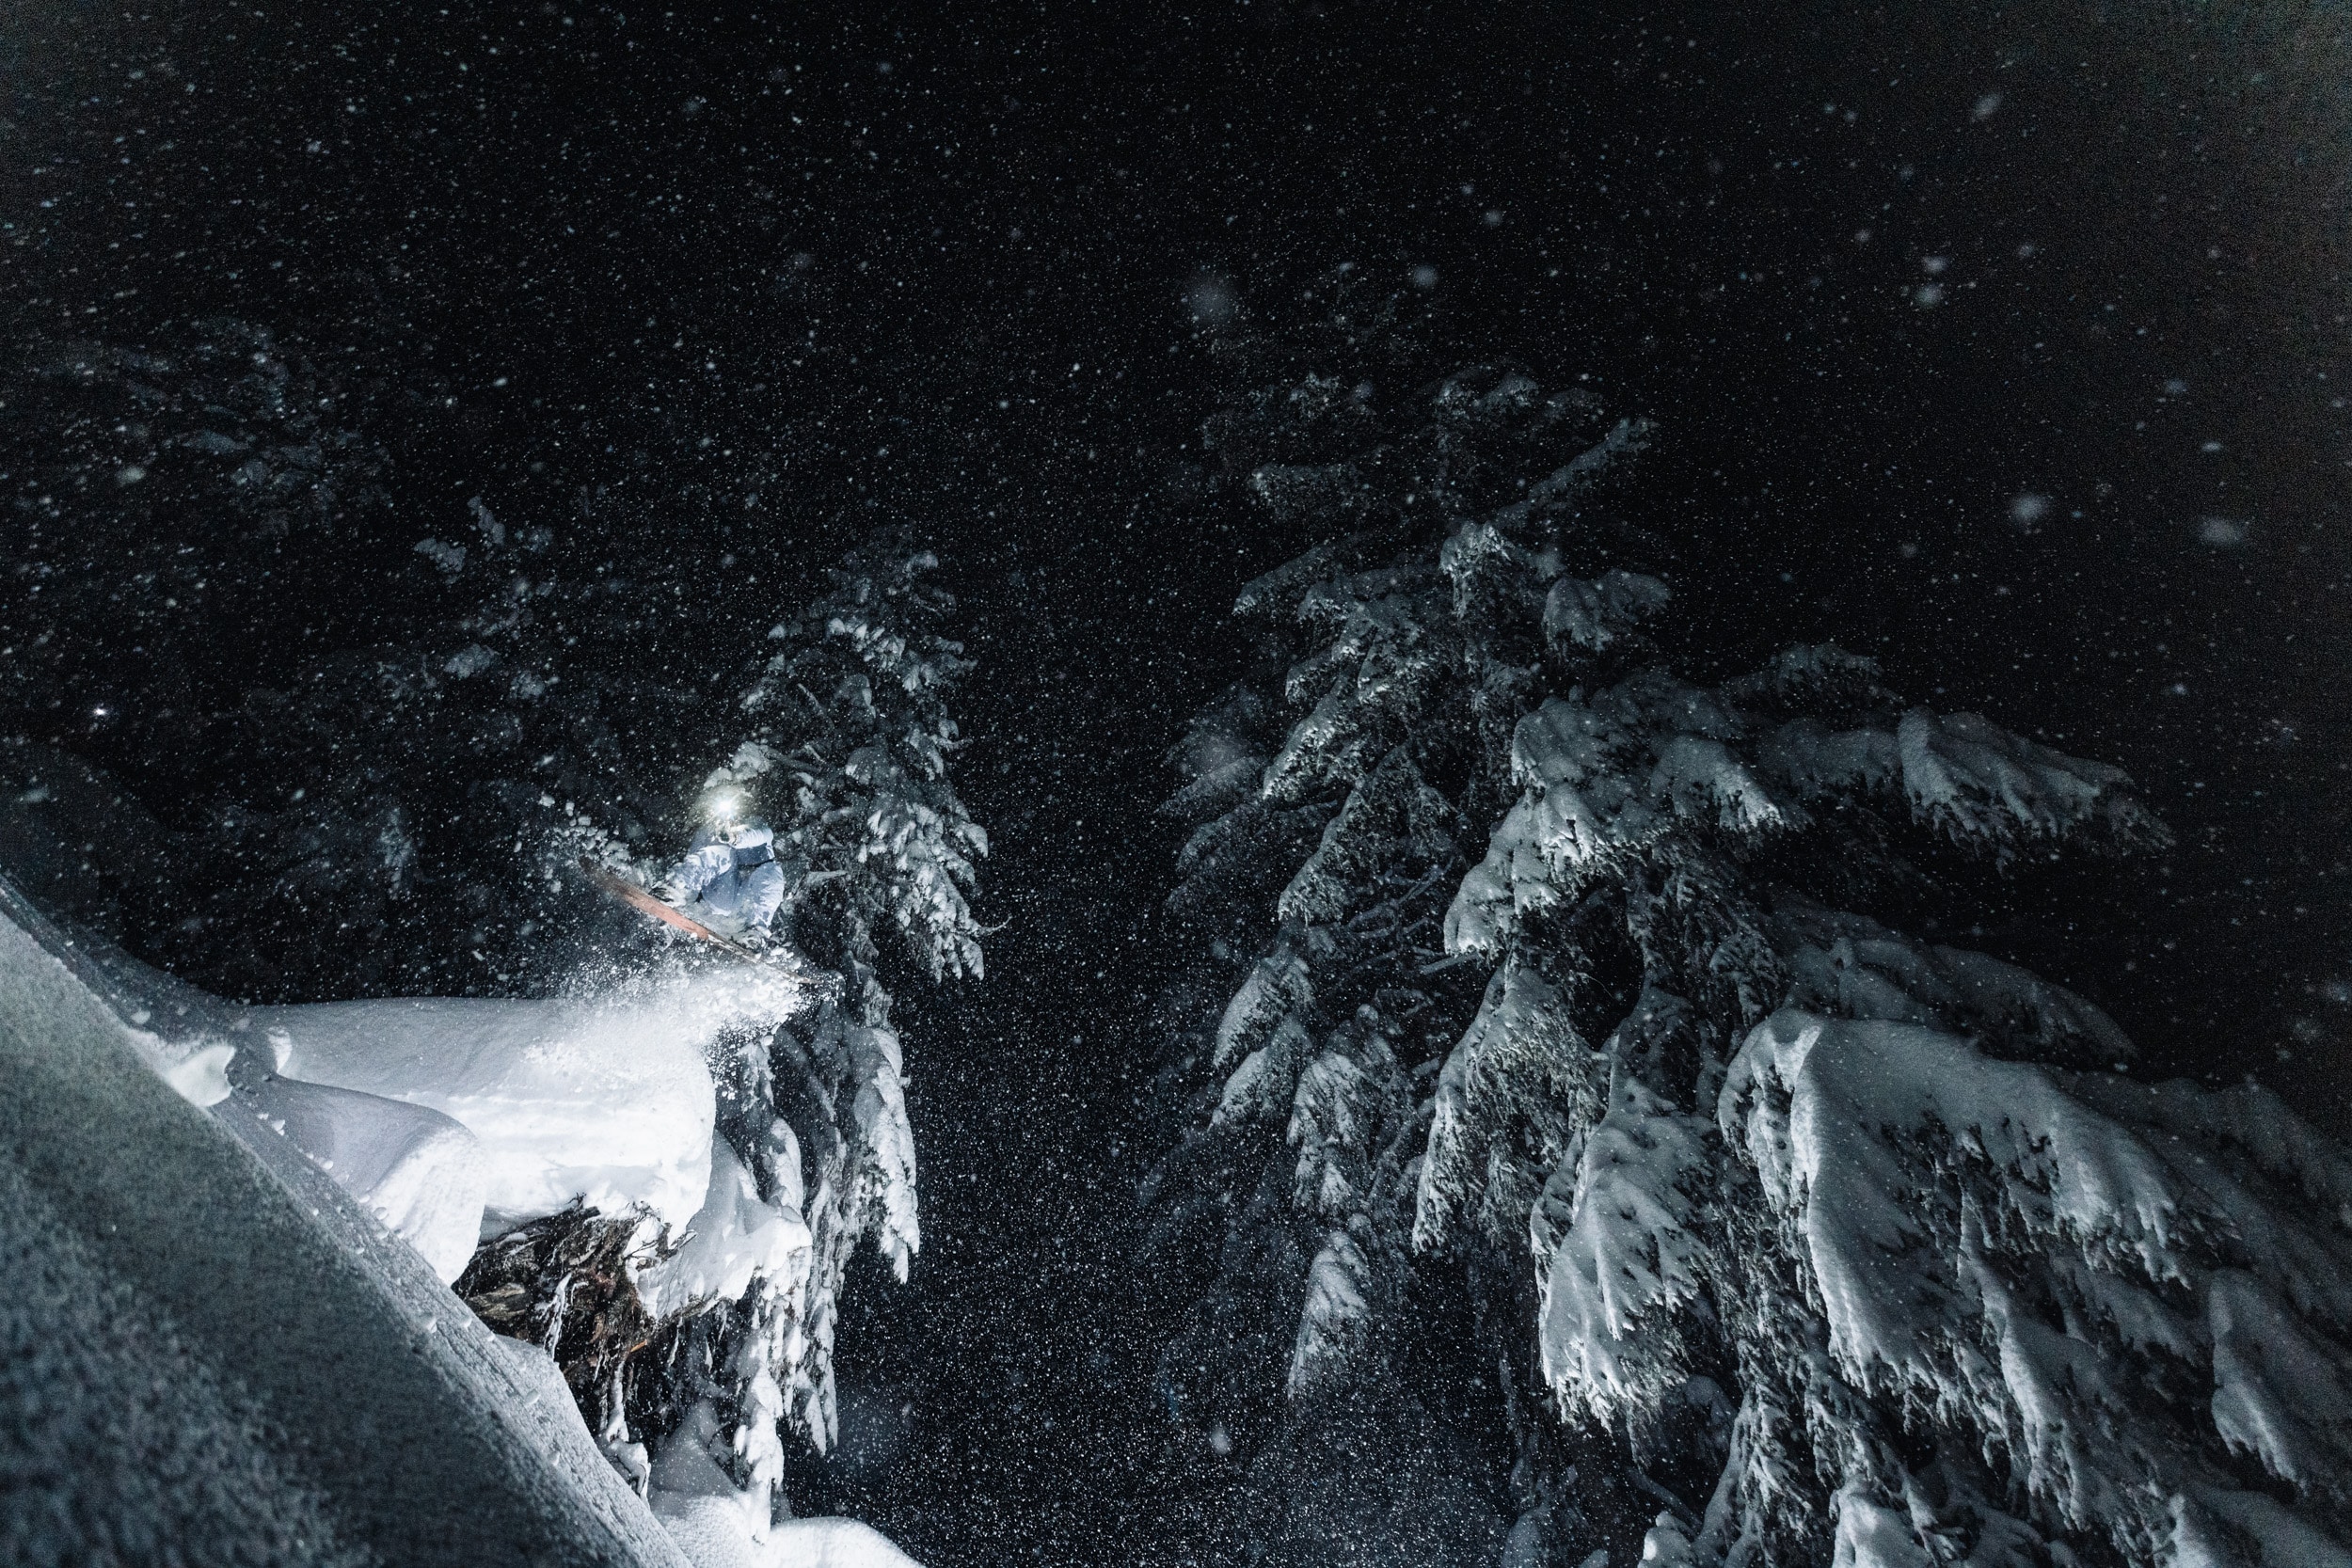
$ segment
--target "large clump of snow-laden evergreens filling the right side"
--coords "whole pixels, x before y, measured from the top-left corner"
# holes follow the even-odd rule
[[[1606,503],[1644,425],[1505,369],[1388,421],[1343,388],[1221,428],[1334,538],[1242,590],[1282,651],[1171,802],[1174,903],[1237,973],[1148,1190],[1162,1267],[1214,1260],[1162,1366],[1254,1455],[1261,1540],[1381,1561],[1341,1500],[1484,1406],[1508,1537],[1439,1455],[1423,1507],[1472,1523],[1430,1561],[1649,1516],[1661,1563],[2347,1561],[2352,1161],[1851,912],[2161,842],[2129,780],[1835,646],[1684,677]],[[1371,1436],[1317,1479],[1334,1410]]]

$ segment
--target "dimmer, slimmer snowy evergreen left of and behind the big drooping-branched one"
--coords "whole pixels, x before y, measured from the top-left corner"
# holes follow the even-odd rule
[[[1383,315],[1362,308],[1367,346]],[[1418,416],[1310,364],[1289,390],[1235,397],[1209,440],[1277,527],[1341,536],[1240,602],[1275,637],[1305,623],[1317,644],[1277,654],[1176,750],[1192,783],[1169,811],[1200,825],[1171,907],[1242,973],[1197,1034],[1202,1126],[1150,1185],[1155,1267],[1216,1260],[1162,1356],[1167,1401],[1247,1458],[1242,1535],[1277,1561],[1385,1561],[1399,1544],[1484,1561],[1510,1523],[1496,1493],[1512,1465],[1491,1465],[1465,1389],[1526,1356],[1454,1269],[1416,1258],[1411,1232],[1432,1058],[1477,999],[1442,924],[1472,823],[1501,806],[1477,766],[1496,658],[1465,639],[1454,581],[1411,541],[1449,512],[1564,508],[1644,430],[1505,369],[1446,378]],[[1529,496],[1526,468],[1550,487]],[[1519,1467],[1524,1509],[1555,1469]]]

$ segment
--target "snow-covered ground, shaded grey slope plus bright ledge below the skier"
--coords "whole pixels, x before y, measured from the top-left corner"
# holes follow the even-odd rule
[[[233,1009],[0,884],[0,1561],[903,1568],[687,1441],[647,1502],[447,1288],[574,1199],[689,1237],[680,1300],[807,1248],[713,1159],[703,1056],[795,990]]]

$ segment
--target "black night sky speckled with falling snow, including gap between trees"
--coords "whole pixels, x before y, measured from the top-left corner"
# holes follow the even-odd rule
[[[12,341],[233,313],[433,383],[383,550],[468,494],[560,515],[640,454],[783,473],[727,538],[649,503],[604,541],[694,592],[743,592],[734,548],[797,595],[884,494],[929,520],[1007,929],[978,990],[903,1004],[929,1246],[844,1331],[833,1502],[941,1566],[1143,1561],[1176,1483],[1129,1441],[1120,1262],[1171,964],[1150,806],[1240,656],[1235,585],[1305,543],[1188,482],[1204,268],[1265,322],[1338,261],[1435,268],[1458,357],[1663,423],[1646,520],[1700,564],[1705,656],[1835,637],[2129,766],[2178,849],[2027,877],[1983,943],[2166,1070],[2352,1124],[2340,12],[856,9],[59,2],[0,33]],[[294,611],[207,679],[397,616]],[[71,635],[136,705],[139,663]]]

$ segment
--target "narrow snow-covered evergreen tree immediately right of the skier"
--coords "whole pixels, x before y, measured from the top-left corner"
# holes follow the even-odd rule
[[[767,1154],[769,1119],[793,1124],[816,1171],[795,1204],[814,1237],[802,1293],[746,1298],[729,1328],[729,1378],[753,1394],[769,1389],[762,1378],[788,1389],[776,1410],[746,1406],[750,1448],[739,1453],[764,1455],[750,1465],[760,1486],[781,1476],[774,1415],[818,1448],[833,1439],[833,1324],[849,1253],[873,1239],[906,1279],[922,1246],[906,1060],[875,973],[880,936],[894,929],[934,980],[981,976],[983,929],[967,896],[988,835],[948,780],[960,748],[948,698],[971,663],[941,630],[955,599],[927,581],[936,567],[901,531],[884,531],[828,571],[826,592],[767,632],[781,646],[743,691],[750,733],[703,780],[769,818],[786,879],[776,931],[847,983],[779,1037],[753,1074],[760,1110],[746,1112],[748,1157],[764,1180],[800,1180],[797,1154]],[[760,1403],[741,1389],[731,1399]]]

